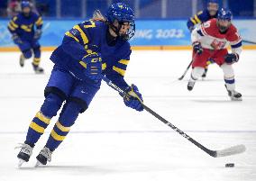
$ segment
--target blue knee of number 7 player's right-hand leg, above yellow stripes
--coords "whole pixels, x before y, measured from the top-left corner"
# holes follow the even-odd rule
[[[76,122],[78,114],[82,111],[85,111],[83,104],[74,99],[69,99],[59,115],[59,122],[65,127],[70,127]]]

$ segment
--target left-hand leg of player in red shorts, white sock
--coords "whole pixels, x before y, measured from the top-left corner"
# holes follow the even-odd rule
[[[204,49],[203,53],[200,55],[195,55],[195,52],[193,52],[194,61],[192,64],[192,72],[190,79],[187,84],[187,90],[191,91],[198,78],[202,77],[204,74],[205,68],[206,68],[206,61],[210,57],[209,50]]]

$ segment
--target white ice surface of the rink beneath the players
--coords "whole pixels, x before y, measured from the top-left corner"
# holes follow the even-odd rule
[[[50,52],[42,53],[44,75],[34,75],[31,60],[18,65],[18,53],[0,53],[0,181],[255,181],[256,51],[244,50],[234,66],[242,102],[231,102],[223,73],[211,65],[205,81],[187,91],[178,81],[189,51],[133,51],[126,80],[136,84],[144,103],[209,149],[244,144],[246,152],[211,158],[151,116],[124,106],[102,83],[86,113],[46,167],[33,167],[57,118],[36,145],[29,163],[16,168],[17,143],[23,142],[43,101],[50,77]],[[225,163],[235,167],[226,168]]]

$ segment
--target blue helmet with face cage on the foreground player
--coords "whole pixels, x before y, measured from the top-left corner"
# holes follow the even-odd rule
[[[134,23],[134,13],[133,9],[128,5],[123,3],[116,3],[111,5],[108,8],[106,13],[107,23],[110,25],[112,30],[119,35],[119,32],[122,28],[123,23],[129,23],[130,29],[126,32],[125,35],[119,35],[124,41],[130,40],[135,33],[135,23]],[[114,22],[117,21],[119,23],[119,27],[114,26]]]

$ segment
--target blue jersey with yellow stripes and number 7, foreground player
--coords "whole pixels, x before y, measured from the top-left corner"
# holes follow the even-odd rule
[[[132,53],[130,43],[117,39],[113,46],[107,44],[108,26],[104,22],[87,21],[78,23],[65,33],[62,44],[54,50],[50,59],[57,65],[68,68],[83,77],[78,62],[88,53],[97,52],[102,58],[103,74],[114,84],[128,86],[123,77]],[[74,68],[74,65],[77,68]]]

